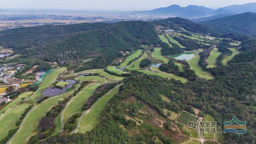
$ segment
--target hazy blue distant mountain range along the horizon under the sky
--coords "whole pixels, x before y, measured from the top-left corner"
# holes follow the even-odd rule
[[[131,14],[145,14],[145,15],[158,15],[158,16],[179,16],[182,18],[202,18],[206,16],[217,15],[234,15],[243,12],[256,12],[256,3],[232,5],[218,9],[206,8],[205,6],[189,5],[181,7],[179,5],[171,5],[166,8],[157,8],[154,10],[146,11],[133,11]]]

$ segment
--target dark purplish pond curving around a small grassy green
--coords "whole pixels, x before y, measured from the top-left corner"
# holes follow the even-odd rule
[[[65,86],[64,88],[60,89],[60,88],[46,88],[41,94],[43,95],[43,97],[46,96],[57,96],[60,94],[63,94],[66,92],[66,89],[68,88],[72,88],[72,86],[76,83],[76,80],[72,80],[72,79],[68,79],[68,80],[57,80],[58,82],[68,82],[69,84],[67,86]]]

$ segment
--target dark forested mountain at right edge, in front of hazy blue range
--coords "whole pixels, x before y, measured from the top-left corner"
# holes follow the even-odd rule
[[[200,24],[208,25],[218,32],[256,35],[256,13],[252,12],[207,20]]]

